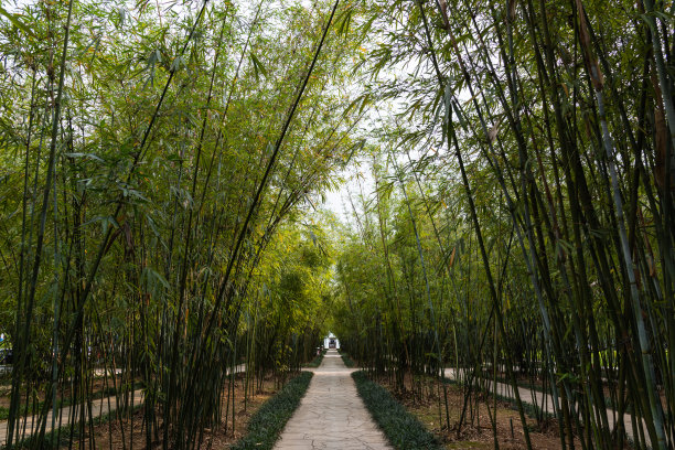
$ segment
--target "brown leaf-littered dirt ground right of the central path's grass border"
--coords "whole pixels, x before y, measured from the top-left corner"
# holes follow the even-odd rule
[[[494,436],[490,415],[494,416],[493,398],[480,395],[479,400],[467,407],[467,413],[461,431],[458,436],[458,425],[463,407],[463,394],[460,387],[447,385],[448,410],[450,416],[450,428],[446,421],[444,394],[442,388],[430,379],[417,382],[417,395],[413,396],[408,390],[405,394],[395,392],[394,386],[386,379],[379,381],[406,408],[415,415],[428,430],[443,442],[447,449],[494,449]],[[421,388],[419,387],[421,384]],[[406,383],[409,386],[409,383]],[[439,397],[440,395],[440,397]],[[439,398],[441,401],[439,403]],[[488,404],[490,404],[490,413]],[[440,407],[440,409],[439,409]],[[440,415],[439,415],[440,411]],[[439,420],[440,417],[440,420]],[[528,418],[527,427],[532,448],[540,450],[561,449],[558,433],[558,424],[555,419],[545,419],[537,424],[536,419]],[[511,404],[496,403],[496,436],[500,450],[526,449],[525,435],[518,413],[511,408]],[[575,440],[576,447],[580,442]]]

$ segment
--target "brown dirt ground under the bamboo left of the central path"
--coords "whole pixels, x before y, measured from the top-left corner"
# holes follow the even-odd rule
[[[271,397],[277,390],[278,386],[275,381],[266,378],[261,388],[254,393],[254,396],[249,396],[245,404],[244,398],[244,385],[245,375],[237,374],[235,381],[235,429],[232,429],[232,409],[229,410],[229,417],[227,420],[227,427],[225,428],[225,419],[219,427],[214,429],[206,429],[204,435],[204,442],[201,448],[212,450],[224,450],[227,449],[232,443],[240,439],[248,427],[248,421],[251,415],[260,408],[260,406]],[[249,392],[250,393],[250,392]],[[225,405],[226,398],[223,399]],[[232,400],[231,400],[232,401]],[[232,403],[231,403],[232,408]],[[96,449],[148,449],[146,444],[146,430],[142,421],[142,410],[138,410],[133,415],[133,419],[125,419],[121,424],[119,420],[114,420],[108,424],[100,425],[94,428],[94,436],[96,436]],[[132,442],[131,442],[132,440]],[[84,439],[84,446],[75,443],[74,448],[86,448],[89,449],[88,436]],[[160,449],[161,442],[153,442],[151,449]],[[67,448],[67,446],[65,447]]]

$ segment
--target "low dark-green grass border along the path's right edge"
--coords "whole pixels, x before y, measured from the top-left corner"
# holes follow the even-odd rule
[[[368,411],[395,448],[406,450],[443,448],[387,389],[368,379],[365,372],[354,372],[352,377]]]

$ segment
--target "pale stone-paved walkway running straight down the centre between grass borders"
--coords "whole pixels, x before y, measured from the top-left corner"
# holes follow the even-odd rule
[[[286,425],[277,450],[392,449],[379,431],[340,354],[329,350],[300,406]]]

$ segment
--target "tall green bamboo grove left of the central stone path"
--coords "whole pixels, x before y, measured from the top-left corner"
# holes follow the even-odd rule
[[[103,389],[124,448],[200,448],[234,426],[238,364],[248,395],[311,358],[331,259],[303,212],[357,121],[345,11],[3,2],[2,444],[97,448]]]

